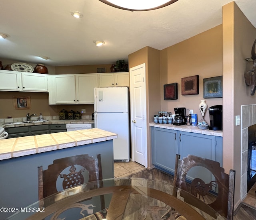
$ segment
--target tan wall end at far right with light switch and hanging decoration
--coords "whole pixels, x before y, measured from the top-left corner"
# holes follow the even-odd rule
[[[238,6],[231,2],[223,7],[223,81],[224,81],[224,168],[236,170],[235,204],[241,200],[241,125],[235,126],[234,118],[241,116],[241,105],[255,104],[255,95],[244,82],[244,72],[251,66],[256,29]],[[251,117],[248,115],[248,117]]]

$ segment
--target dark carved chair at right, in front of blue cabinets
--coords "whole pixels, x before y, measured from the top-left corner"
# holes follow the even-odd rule
[[[196,166],[208,169],[214,175],[215,181],[204,183],[201,179],[195,178],[191,184],[186,183],[186,175],[188,171]],[[180,155],[176,155],[174,186],[183,190],[180,195],[184,197],[185,202],[188,202],[215,217],[215,214],[209,211],[209,208],[207,208],[208,206],[205,205],[204,202],[201,202],[200,200],[200,202],[198,202],[196,199],[193,199],[195,198],[194,196],[199,196],[199,198],[202,199],[212,190],[212,184],[218,186],[218,195],[212,203],[208,204],[208,206],[212,207],[228,220],[233,220],[235,171],[230,170],[228,175],[224,173],[224,169],[220,167],[220,163],[216,161],[194,155],[188,155],[188,157],[180,159]],[[188,193],[185,193],[184,191]],[[194,196],[191,196],[191,194]],[[174,195],[176,196],[176,191],[174,192]]]

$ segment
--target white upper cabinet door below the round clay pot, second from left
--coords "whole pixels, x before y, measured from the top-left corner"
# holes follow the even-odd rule
[[[48,92],[47,75],[22,73],[22,90],[31,92]]]

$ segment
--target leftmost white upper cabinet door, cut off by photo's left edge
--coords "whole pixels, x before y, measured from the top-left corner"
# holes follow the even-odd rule
[[[21,90],[21,73],[16,71],[0,71],[0,90],[3,91],[20,91]]]

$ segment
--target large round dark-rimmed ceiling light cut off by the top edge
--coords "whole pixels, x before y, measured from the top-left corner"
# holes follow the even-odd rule
[[[178,0],[99,0],[115,8],[129,11],[150,11],[168,6]]]

